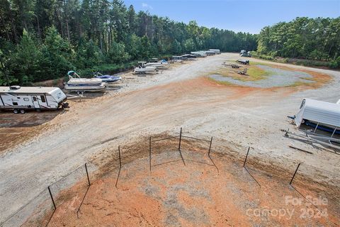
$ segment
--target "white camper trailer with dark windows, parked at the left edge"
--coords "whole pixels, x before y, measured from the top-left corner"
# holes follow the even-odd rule
[[[57,87],[0,87],[0,110],[24,114],[28,109],[55,110],[68,107],[67,96]]]

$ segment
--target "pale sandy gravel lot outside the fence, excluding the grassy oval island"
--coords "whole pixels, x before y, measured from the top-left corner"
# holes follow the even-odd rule
[[[0,222],[52,182],[94,155],[101,155],[104,149],[140,136],[177,132],[180,127],[191,135],[213,135],[220,146],[229,142],[250,145],[268,153],[268,160],[270,156],[290,157],[339,172],[339,155],[285,138],[280,129],[295,131],[286,116],[297,112],[304,97],[337,101],[340,72],[289,65],[329,74],[332,81],[319,89],[228,87],[201,77],[225,60],[237,58],[237,54],[226,53],[147,77],[124,74],[122,84],[106,95],[70,101],[71,108],[56,115],[24,116],[26,124],[42,119],[40,126],[16,125],[13,115],[1,113],[1,121],[8,118],[7,123],[18,127],[8,127],[5,122],[0,129],[6,142],[0,157]],[[20,136],[28,140],[21,143]],[[17,140],[19,144],[13,145]],[[309,150],[313,155],[292,150],[288,145]]]

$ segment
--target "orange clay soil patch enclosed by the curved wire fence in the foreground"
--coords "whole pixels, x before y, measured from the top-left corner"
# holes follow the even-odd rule
[[[279,178],[251,165],[248,170],[259,187],[239,160],[222,154],[210,159],[206,149],[191,143],[183,142],[181,154],[176,142],[168,145],[162,152],[154,148],[152,172],[147,157],[123,163],[117,188],[118,169],[109,170],[107,165],[105,174],[93,176],[79,218],[85,182],[60,194],[51,219],[49,212],[24,226],[45,226],[49,219],[48,226],[336,226],[340,222],[339,204],[329,199],[315,207],[303,198],[317,198],[315,184],[297,178],[293,184],[297,192],[288,185],[288,175]],[[117,160],[107,161],[117,166]]]

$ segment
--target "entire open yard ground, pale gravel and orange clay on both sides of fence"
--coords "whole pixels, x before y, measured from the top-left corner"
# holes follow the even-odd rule
[[[111,85],[106,92],[85,93],[83,98],[69,99],[70,107],[65,110],[16,115],[1,112],[0,223],[47,186],[92,161],[97,177],[89,188],[91,200],[84,202],[80,218],[74,213],[65,214],[73,206],[72,199],[66,199],[62,204],[64,209],[57,209],[51,219],[51,226],[86,223],[104,226],[112,221],[116,226],[290,226],[296,223],[336,226],[340,222],[339,214],[334,212],[340,209],[339,184],[334,189],[338,194],[327,198],[331,204],[329,217],[306,221],[295,214],[290,220],[276,217],[251,220],[245,213],[249,207],[285,207],[283,196],[301,198],[283,185],[284,181],[289,182],[299,162],[339,174],[339,150],[287,138],[283,131],[298,132],[287,116],[297,114],[302,99],[331,103],[340,99],[340,72],[246,58],[268,72],[256,79],[249,72],[254,67],[252,63],[243,66],[249,67],[248,76],[237,74],[239,69],[231,72],[232,67],[223,65],[238,59],[238,54],[222,53],[174,63],[166,70],[142,77],[132,72],[122,73],[119,74],[121,82]],[[203,155],[202,146],[190,143],[185,143],[184,159],[209,165],[188,162],[183,166],[176,162],[157,166],[151,174],[148,172],[147,138],[161,133],[172,135],[181,127],[199,138],[213,136],[212,160],[218,173]],[[134,153],[125,152],[129,163],[125,163],[120,186],[115,189],[117,165],[108,167],[108,163],[116,162],[118,145],[136,144],[138,149]],[[253,160],[254,177],[265,185],[261,189],[246,172],[237,175],[237,165],[242,167],[248,146],[257,150],[252,155],[261,162],[278,163],[277,169],[265,171]],[[171,152],[176,150],[173,142],[159,149],[157,160],[168,162],[180,158],[178,151]],[[191,149],[197,153],[191,153]],[[134,156],[138,151],[142,155]],[[228,153],[236,158],[225,157]],[[292,165],[289,160],[296,163]],[[281,170],[285,174],[278,176]],[[110,174],[103,177],[106,171]],[[137,172],[140,175],[136,175]],[[319,175],[309,177],[317,180]],[[329,177],[327,183],[332,181]],[[297,184],[299,182],[297,179]],[[300,186],[305,190],[303,194],[319,195],[316,184],[300,182]],[[74,203],[79,204],[81,196],[77,194],[74,198]],[[231,202],[232,198],[237,199]],[[120,204],[124,201],[127,204]]]

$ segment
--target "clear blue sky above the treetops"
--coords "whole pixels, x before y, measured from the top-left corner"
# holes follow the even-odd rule
[[[125,0],[125,4],[174,21],[197,21],[199,26],[249,33],[297,16],[340,16],[340,0]]]

